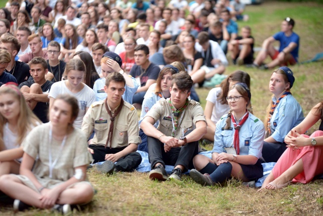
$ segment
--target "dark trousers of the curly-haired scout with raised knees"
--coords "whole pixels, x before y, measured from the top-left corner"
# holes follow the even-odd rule
[[[182,165],[185,170],[194,168],[193,157],[198,154],[198,141],[187,143],[185,146],[171,148],[170,151],[164,151],[164,144],[158,139],[147,136],[149,161],[153,169],[157,163],[177,166]]]

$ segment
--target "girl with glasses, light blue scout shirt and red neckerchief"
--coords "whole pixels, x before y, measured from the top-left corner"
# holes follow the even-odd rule
[[[247,110],[249,88],[244,83],[235,84],[226,100],[230,111],[216,124],[212,159],[204,155],[193,158],[195,169],[190,176],[202,186],[224,184],[230,178],[256,181],[263,176],[260,157],[265,129]]]

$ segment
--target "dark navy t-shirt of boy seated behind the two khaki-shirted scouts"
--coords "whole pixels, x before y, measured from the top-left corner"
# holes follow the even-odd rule
[[[145,86],[147,80],[157,80],[160,71],[161,69],[154,63],[150,63],[146,70],[143,70],[141,66],[135,64],[131,68],[130,75],[134,78],[140,77],[141,86]]]

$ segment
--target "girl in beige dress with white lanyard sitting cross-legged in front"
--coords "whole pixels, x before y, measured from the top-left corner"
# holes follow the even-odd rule
[[[66,214],[70,205],[91,201],[93,189],[85,181],[91,156],[85,136],[73,127],[78,109],[74,97],[58,96],[50,108],[50,122],[35,127],[22,143],[20,175],[0,178],[0,190],[16,199],[15,211],[54,207]]]

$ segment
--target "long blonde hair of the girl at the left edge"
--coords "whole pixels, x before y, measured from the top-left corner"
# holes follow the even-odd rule
[[[16,86],[13,85],[3,85],[0,88],[0,95],[3,94],[11,94],[14,98],[19,101],[19,110],[20,113],[18,115],[18,122],[17,122],[17,143],[19,145],[22,143],[24,138],[27,135],[27,131],[30,131],[33,126],[36,126],[41,122],[37,116],[31,111],[30,108],[27,107],[27,103],[25,98],[19,91]],[[3,126],[8,120],[0,114],[0,151],[5,150],[5,145],[3,141]]]

